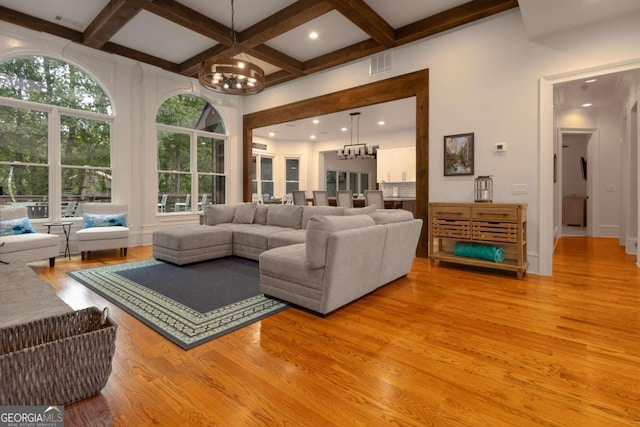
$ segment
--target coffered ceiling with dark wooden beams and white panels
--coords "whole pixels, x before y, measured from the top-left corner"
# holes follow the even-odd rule
[[[0,0],[0,20],[186,76],[208,58],[243,54],[273,86],[515,7],[517,0],[235,0],[232,32],[231,0]]]

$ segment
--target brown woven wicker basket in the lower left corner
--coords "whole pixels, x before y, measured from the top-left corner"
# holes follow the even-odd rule
[[[0,329],[0,405],[68,405],[97,394],[116,344],[96,307]]]

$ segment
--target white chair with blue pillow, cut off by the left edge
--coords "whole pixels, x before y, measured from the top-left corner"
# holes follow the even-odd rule
[[[0,230],[0,261],[11,263],[12,261],[39,261],[49,259],[49,266],[56,263],[56,256],[59,252],[60,238],[56,234],[33,233],[9,234],[5,231],[10,227],[10,222],[27,218],[27,208],[25,206],[4,206],[0,207],[0,223],[3,229]],[[26,220],[28,222],[28,219]]]

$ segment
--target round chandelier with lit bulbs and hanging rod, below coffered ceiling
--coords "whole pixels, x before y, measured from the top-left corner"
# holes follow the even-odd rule
[[[235,8],[231,0],[231,51],[235,51]],[[200,64],[198,80],[207,89],[232,95],[252,95],[265,86],[264,71],[248,59],[217,57]]]

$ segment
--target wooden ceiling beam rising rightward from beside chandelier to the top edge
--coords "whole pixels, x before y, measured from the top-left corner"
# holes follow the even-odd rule
[[[240,33],[239,42],[255,47],[333,10],[329,1],[299,0]]]

